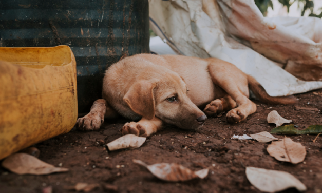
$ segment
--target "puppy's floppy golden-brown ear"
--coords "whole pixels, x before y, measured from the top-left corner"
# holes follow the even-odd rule
[[[152,83],[137,82],[130,87],[123,100],[134,112],[151,120],[155,116],[154,88],[155,85]]]

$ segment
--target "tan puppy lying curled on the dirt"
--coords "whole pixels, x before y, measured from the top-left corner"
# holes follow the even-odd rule
[[[229,110],[227,121],[238,123],[256,111],[249,88],[266,103],[295,102],[294,96],[269,96],[254,78],[219,59],[138,54],[106,70],[103,99],[77,120],[77,127],[97,130],[104,118],[122,115],[134,121],[123,126],[123,134],[149,136],[164,124],[197,129],[206,115],[216,117]]]

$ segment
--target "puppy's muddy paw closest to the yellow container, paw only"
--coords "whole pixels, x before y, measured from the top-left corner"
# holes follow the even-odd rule
[[[76,122],[76,127],[81,131],[98,130],[104,123],[104,118],[101,118],[96,113],[88,113],[83,118],[79,118]]]

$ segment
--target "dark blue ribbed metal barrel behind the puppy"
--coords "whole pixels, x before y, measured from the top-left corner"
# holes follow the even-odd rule
[[[89,112],[109,65],[149,53],[148,0],[0,1],[0,46],[58,45],[75,55],[79,113]]]

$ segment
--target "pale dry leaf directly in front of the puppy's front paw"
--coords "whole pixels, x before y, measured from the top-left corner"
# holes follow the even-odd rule
[[[110,151],[125,148],[135,149],[140,147],[145,142],[145,140],[146,138],[144,137],[138,137],[134,134],[126,134],[125,136],[109,142],[107,144],[107,147]]]

